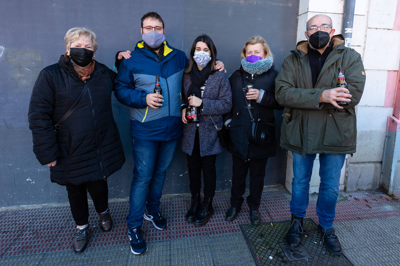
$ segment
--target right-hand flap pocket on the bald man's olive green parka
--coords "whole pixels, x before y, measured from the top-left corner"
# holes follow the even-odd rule
[[[332,110],[332,109],[331,109]],[[352,146],[354,136],[354,114],[348,109],[338,109],[328,113],[324,136],[324,146]]]

